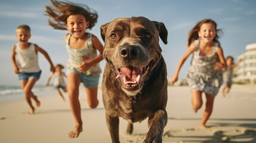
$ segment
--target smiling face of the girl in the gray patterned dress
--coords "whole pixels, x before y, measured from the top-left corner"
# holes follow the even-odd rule
[[[212,23],[203,23],[198,32],[198,36],[202,41],[208,43],[212,42],[216,36],[215,26]]]

